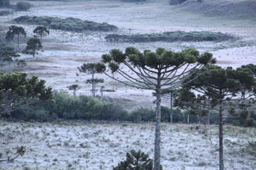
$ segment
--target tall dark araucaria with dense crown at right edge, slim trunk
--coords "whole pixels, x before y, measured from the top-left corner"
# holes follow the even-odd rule
[[[199,76],[200,74],[200,76]],[[199,77],[198,77],[199,76]],[[193,79],[198,77],[197,79]],[[191,81],[193,79],[193,81]],[[243,104],[246,97],[252,96],[252,90],[255,85],[253,73],[249,68],[221,68],[211,65],[208,68],[202,68],[200,71],[192,73],[187,79],[184,79],[185,86],[192,88],[199,93],[207,95],[210,98],[210,104],[217,106],[219,110],[219,170],[224,169],[223,157],[223,120],[234,114],[234,109],[228,111],[225,108],[225,102],[232,103],[239,101]],[[247,92],[251,92],[249,94]],[[247,118],[248,111],[241,111],[241,116]]]

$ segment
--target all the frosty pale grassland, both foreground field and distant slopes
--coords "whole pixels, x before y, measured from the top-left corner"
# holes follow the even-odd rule
[[[16,4],[17,0],[11,0]],[[237,36],[236,41],[226,42],[107,42],[107,32],[87,31],[74,33],[50,30],[43,37],[43,51],[35,57],[21,54],[28,66],[22,71],[46,80],[54,90],[68,90],[69,85],[78,84],[77,94],[91,95],[90,85],[85,83],[91,75],[79,73],[79,66],[87,62],[99,62],[102,54],[113,48],[125,50],[134,46],[139,50],[166,48],[175,51],[196,48],[209,51],[222,67],[240,67],[255,63],[256,57],[256,2],[254,0],[203,0],[198,3],[188,0],[185,4],[170,6],[168,0],[125,3],[119,0],[78,1],[26,1],[33,4],[28,11],[0,16],[0,39],[12,19],[19,16],[73,17],[93,22],[107,22],[119,27],[108,33],[163,33],[165,31],[213,31]],[[16,24],[27,31],[21,39],[24,49],[33,37],[36,25]],[[15,44],[16,46],[16,44]],[[128,72],[128,70],[127,70]],[[78,73],[78,74],[77,74]],[[103,74],[106,89],[116,92],[104,96],[130,99],[123,103],[125,108],[154,108],[152,91],[141,91],[126,87]],[[122,79],[119,77],[119,79]],[[101,86],[99,85],[99,86]],[[98,87],[99,89],[99,87]],[[72,91],[70,91],[71,93]],[[99,91],[97,94],[100,95]],[[163,102],[163,105],[168,105]],[[161,163],[163,169],[218,169],[218,130],[207,127],[207,133],[190,131],[193,125],[162,125]],[[203,129],[204,127],[202,127]],[[255,128],[225,127],[225,169],[256,169],[255,157],[246,154],[248,141],[255,140]],[[72,125],[51,123],[7,123],[0,122],[0,152],[3,157],[13,155],[17,145],[27,146],[24,157],[14,163],[0,163],[0,169],[112,169],[125,153],[141,149],[153,157],[153,124],[87,124]]]

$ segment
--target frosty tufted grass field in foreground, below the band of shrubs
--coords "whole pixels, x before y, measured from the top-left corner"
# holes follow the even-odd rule
[[[191,131],[190,127],[195,129],[196,125],[162,124],[163,169],[218,169],[218,128],[201,126],[199,131]],[[256,169],[255,157],[248,154],[247,148],[248,141],[255,140],[254,131],[255,128],[225,126],[225,169]],[[150,158],[154,156],[153,123],[1,122],[0,135],[3,158],[13,157],[17,145],[27,148],[24,157],[18,157],[14,163],[0,163],[2,170],[110,170],[125,160],[126,152],[131,149],[140,149]]]

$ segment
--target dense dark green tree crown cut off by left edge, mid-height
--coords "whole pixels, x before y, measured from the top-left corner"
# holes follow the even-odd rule
[[[27,73],[0,72],[0,114],[8,114],[51,97],[51,88],[46,88],[45,80],[27,76]]]

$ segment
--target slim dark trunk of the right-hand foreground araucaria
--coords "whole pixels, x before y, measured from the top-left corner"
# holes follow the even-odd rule
[[[220,90],[220,93],[219,93],[219,170],[224,170],[224,163],[223,163],[222,90]]]

